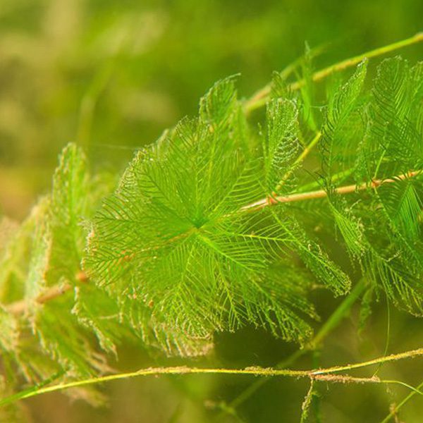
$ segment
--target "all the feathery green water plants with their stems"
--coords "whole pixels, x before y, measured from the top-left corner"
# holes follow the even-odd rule
[[[198,115],[137,151],[118,181],[69,144],[30,216],[19,227],[1,221],[5,421],[18,419],[20,398],[72,388],[64,392],[97,404],[97,382],[141,374],[306,377],[302,422],[313,418],[319,384],[402,384],[422,394],[377,369],[349,373],[423,355],[422,345],[341,367],[281,369],[318,350],[360,297],[361,331],[376,302],[423,314],[423,63],[372,59],[422,39],[320,73],[307,51],[247,100],[237,77],[216,82]],[[326,323],[314,301],[321,291],[344,297]],[[245,326],[298,350],[280,369],[114,370],[122,345],[201,357],[213,354],[217,333]],[[264,380],[214,415],[238,418]]]

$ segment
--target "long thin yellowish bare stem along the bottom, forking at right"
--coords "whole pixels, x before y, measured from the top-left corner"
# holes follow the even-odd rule
[[[68,388],[77,388],[78,386],[86,386],[93,384],[100,384],[107,381],[114,381],[118,379],[128,379],[137,376],[155,376],[160,374],[237,374],[237,375],[253,375],[253,376],[287,376],[295,378],[313,379],[316,381],[329,381],[333,383],[399,383],[400,381],[383,381],[378,377],[355,377],[345,374],[334,374],[343,372],[345,370],[358,369],[362,367],[372,366],[381,362],[392,362],[396,360],[403,360],[405,358],[417,357],[423,355],[423,348],[417,350],[406,351],[405,353],[392,354],[384,357],[375,358],[355,364],[346,364],[345,366],[328,367],[326,369],[312,369],[312,370],[290,370],[290,369],[272,369],[264,367],[246,367],[245,369],[213,369],[213,368],[200,368],[200,367],[149,367],[147,369],[140,369],[136,372],[108,374],[106,376],[92,377],[89,379],[82,379],[79,381],[71,381],[64,384],[56,384],[52,386],[45,386],[39,389],[28,390],[25,393],[8,396],[0,400],[0,406],[7,405],[15,402],[18,399],[30,398],[38,396],[43,393],[63,391]],[[403,384],[404,385],[404,384]],[[420,393],[420,391],[417,391]],[[423,393],[422,393],[423,394]]]

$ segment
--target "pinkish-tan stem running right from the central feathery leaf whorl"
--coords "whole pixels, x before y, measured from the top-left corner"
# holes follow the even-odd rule
[[[362,190],[367,190],[367,188],[378,188],[385,183],[393,183],[398,182],[398,180],[404,180],[407,178],[412,178],[413,176],[417,176],[422,173],[421,170],[419,171],[410,171],[407,173],[403,173],[402,175],[394,176],[393,178],[388,179],[374,179],[372,182],[361,183],[361,184],[353,184],[353,185],[344,185],[343,187],[335,188],[335,192],[337,194],[349,194],[351,192],[357,192]],[[309,192],[299,192],[297,194],[290,194],[290,195],[278,195],[277,197],[266,197],[262,200],[258,200],[251,204],[247,204],[244,207],[241,207],[240,211],[247,211],[247,210],[257,210],[257,209],[264,209],[264,207],[272,206],[274,204],[281,204],[281,203],[288,203],[288,202],[298,202],[304,200],[315,200],[317,198],[324,198],[327,197],[328,193],[326,190],[316,190],[316,191],[309,191]]]

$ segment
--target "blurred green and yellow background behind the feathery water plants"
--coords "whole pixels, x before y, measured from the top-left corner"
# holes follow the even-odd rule
[[[69,141],[85,147],[94,168],[120,173],[134,149],[195,114],[198,99],[219,78],[240,73],[240,96],[248,97],[272,71],[301,56],[305,42],[324,47],[314,63],[320,68],[420,30],[421,0],[1,0],[0,212],[18,220],[27,215],[49,189],[57,154]],[[416,61],[422,47],[401,54]],[[325,317],[333,300],[323,300]],[[383,304],[372,319],[367,341],[357,338],[354,319],[345,322],[326,343],[323,364],[381,355]],[[393,350],[416,348],[421,322],[396,312],[392,321]],[[396,345],[404,339],[408,345]],[[194,364],[272,365],[294,349],[248,329],[216,343],[213,357]],[[121,366],[164,362],[140,354],[125,349]],[[310,367],[309,358],[301,365]],[[419,381],[415,367],[401,368],[404,374],[393,367],[392,376]],[[107,386],[112,399],[99,410],[70,405],[60,394],[27,403],[35,422],[208,422],[215,415],[210,408],[251,381],[124,381]],[[215,421],[296,422],[305,391],[302,381],[274,380],[240,407],[242,420]],[[374,386],[331,387],[322,395],[324,422],[379,421],[390,398]],[[405,421],[421,422],[422,415],[415,401]]]

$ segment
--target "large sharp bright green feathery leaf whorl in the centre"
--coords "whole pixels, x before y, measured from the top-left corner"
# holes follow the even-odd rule
[[[241,210],[273,195],[295,166],[295,102],[271,101],[267,125],[262,149],[252,148],[233,79],[217,83],[197,119],[136,155],[94,216],[88,274],[130,286],[123,294],[149,307],[154,332],[203,340],[250,323],[304,342],[310,329],[300,315],[315,317],[305,297],[312,278],[296,273],[293,254],[335,293],[348,289],[288,208]]]

